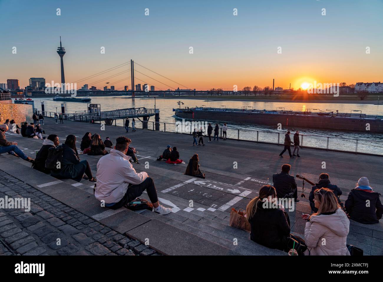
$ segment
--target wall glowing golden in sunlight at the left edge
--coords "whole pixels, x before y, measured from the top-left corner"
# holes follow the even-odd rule
[[[4,103],[3,103],[4,102]],[[15,120],[20,125],[23,121],[33,122],[32,105],[11,104],[5,101],[0,101],[0,124],[5,120]]]

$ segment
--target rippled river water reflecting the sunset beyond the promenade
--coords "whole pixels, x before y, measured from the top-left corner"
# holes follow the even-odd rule
[[[53,101],[52,98],[34,98],[35,108],[41,110],[40,101],[44,101],[45,111],[57,111],[61,110],[61,103],[64,103],[65,113],[74,113],[76,111],[85,111],[87,103],[79,102],[60,102]],[[177,105],[178,100],[181,100],[184,104],[181,107],[226,107],[226,108],[239,108],[247,107],[254,109],[266,109],[266,110],[297,110],[304,111],[311,109],[312,111],[320,110],[339,110],[342,113],[350,113],[350,111],[361,110],[362,113],[370,115],[383,115],[383,105],[370,105],[370,104],[347,104],[347,103],[282,103],[282,102],[244,102],[244,101],[207,101],[206,98],[201,100],[195,99],[155,99],[156,108],[160,109],[160,122],[174,124],[178,119],[175,117],[173,108],[179,107]],[[124,98],[121,96],[116,97],[92,97],[92,103],[100,104],[101,111],[116,110],[122,108],[133,108],[133,107],[146,107],[154,108],[154,99],[136,97],[134,100],[131,98]],[[317,110],[314,110],[317,109]],[[358,113],[358,112],[355,112]],[[154,117],[151,117],[149,121],[154,121]],[[211,122],[214,122],[213,120]],[[218,122],[221,125],[223,122]],[[281,131],[278,131],[275,126],[268,125],[256,125],[252,123],[231,123],[228,125],[231,131],[228,131],[228,135],[232,138],[237,138],[237,131],[240,132],[241,139],[252,139],[254,140],[256,131],[270,132],[270,138],[276,138],[277,133],[280,133],[280,138],[283,138]],[[288,130],[295,131],[299,130],[304,135],[316,135],[321,137],[306,138],[303,143],[306,146],[313,145],[320,148],[326,148],[327,137],[332,137],[331,143],[328,148],[337,149],[340,145],[350,151],[355,151],[355,139],[359,139],[358,151],[371,152],[377,154],[383,154],[383,134],[381,133],[370,133],[368,131],[340,131],[340,130],[326,130],[317,128],[288,128]],[[228,136],[228,137],[229,137]],[[270,141],[268,133],[258,134],[259,141]],[[260,137],[262,136],[262,137]],[[336,139],[336,138],[350,138],[347,139]],[[362,141],[366,139],[368,142]],[[283,139],[282,139],[283,142]],[[307,143],[309,142],[309,143]]]

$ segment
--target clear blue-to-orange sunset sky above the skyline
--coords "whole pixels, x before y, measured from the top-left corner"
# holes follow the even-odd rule
[[[135,84],[156,90],[383,82],[382,28],[383,0],[0,0],[0,83],[60,83],[60,36],[78,87],[130,89],[130,72],[107,78],[130,64],[82,79],[131,59],[173,80],[136,65]]]

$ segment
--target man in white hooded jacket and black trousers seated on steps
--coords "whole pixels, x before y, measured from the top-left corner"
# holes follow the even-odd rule
[[[172,211],[158,202],[157,191],[153,179],[146,172],[137,173],[126,156],[131,140],[126,137],[116,139],[115,149],[110,150],[97,163],[97,185],[95,197],[105,201],[105,206],[113,210],[121,208],[146,190],[154,211],[166,215]]]

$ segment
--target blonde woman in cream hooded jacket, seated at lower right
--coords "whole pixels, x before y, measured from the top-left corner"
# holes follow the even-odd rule
[[[304,254],[310,256],[349,256],[346,240],[350,230],[350,221],[337,201],[332,190],[317,189],[314,192],[317,213],[306,219],[304,241],[308,249]],[[325,243],[324,243],[325,242]]]

